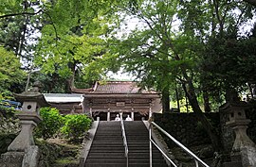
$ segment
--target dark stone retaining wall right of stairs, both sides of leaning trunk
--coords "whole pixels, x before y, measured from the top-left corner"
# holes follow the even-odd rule
[[[256,103],[250,104],[250,109],[247,109],[247,118],[251,120],[247,128],[247,135],[256,143]],[[206,113],[211,124],[217,128],[220,134],[220,140],[223,144],[224,151],[230,153],[235,139],[233,130],[226,125],[229,120],[227,113],[211,112]],[[194,113],[164,113],[154,114],[154,120],[157,125],[163,127],[176,140],[183,143],[185,146],[193,146],[198,144],[210,143],[210,138],[203,126],[197,122]],[[169,145],[174,145],[168,141]]]

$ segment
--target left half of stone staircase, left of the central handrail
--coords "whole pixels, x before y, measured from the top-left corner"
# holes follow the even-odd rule
[[[92,142],[85,167],[125,167],[120,122],[101,121]]]

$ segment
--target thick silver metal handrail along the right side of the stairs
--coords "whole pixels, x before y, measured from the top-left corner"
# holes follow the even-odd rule
[[[168,159],[171,164],[174,167],[177,167],[177,165],[174,163],[174,161],[161,150],[161,148],[153,141],[152,139],[152,126],[155,126],[158,130],[160,130],[163,134],[165,134],[169,139],[171,139],[176,145],[178,145],[180,148],[182,148],[186,153],[188,153],[192,159],[194,160],[195,166],[199,167],[199,164],[205,167],[210,167],[208,164],[206,164],[203,160],[199,159],[197,156],[195,156],[191,150],[189,150],[187,147],[185,147],[182,143],[178,142],[174,139],[173,136],[171,136],[169,133],[167,133],[164,129],[162,129],[159,125],[156,125],[154,122],[151,122],[150,128],[149,128],[149,137],[150,137],[150,167],[152,167],[152,143],[156,146],[156,148],[162,153],[162,155]]]

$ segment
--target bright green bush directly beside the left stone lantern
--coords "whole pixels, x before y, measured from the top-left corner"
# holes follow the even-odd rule
[[[43,121],[35,129],[35,136],[44,140],[52,138],[64,125],[64,118],[58,109],[42,108],[40,116]]]

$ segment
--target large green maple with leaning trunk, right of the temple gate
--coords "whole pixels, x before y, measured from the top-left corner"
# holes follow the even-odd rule
[[[234,8],[241,9],[237,17],[234,17]],[[199,62],[208,54],[206,45],[209,37],[223,36],[235,27],[234,23],[245,23],[245,13],[250,9],[245,4],[234,2],[200,0],[137,1],[131,8],[123,8],[128,15],[144,23],[144,27],[137,28],[127,39],[118,42],[117,52],[125,70],[136,73],[147,87],[163,92],[164,104],[169,102],[166,97],[169,97],[170,88],[175,88],[176,83],[181,84],[193,112],[206,128],[216,150],[221,148],[217,132],[206,119],[198,101],[202,91],[206,104],[210,99],[207,85],[200,80],[202,68]],[[177,18],[181,23],[174,22]],[[178,29],[174,24],[179,24]],[[169,107],[163,106],[163,110],[167,111]]]

